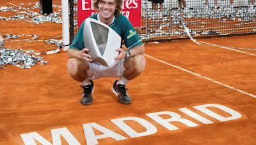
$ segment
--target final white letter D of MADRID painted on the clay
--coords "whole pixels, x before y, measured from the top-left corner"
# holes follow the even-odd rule
[[[226,106],[222,106],[220,104],[205,104],[205,105],[194,106],[194,107],[196,109],[198,109],[199,111],[202,111],[203,113],[208,114],[209,116],[212,116],[216,120],[220,120],[220,121],[236,120],[238,118],[241,118],[241,116],[242,116],[237,111],[234,111],[233,109],[230,109],[229,107],[226,107]],[[218,109],[221,109],[221,110],[231,114],[231,116],[229,116],[229,117],[221,116],[220,114],[214,113],[213,111],[207,109],[206,107],[216,107]]]

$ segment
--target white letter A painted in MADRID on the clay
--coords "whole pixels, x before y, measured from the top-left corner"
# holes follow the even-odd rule
[[[107,137],[111,137],[111,138],[115,139],[116,141],[121,141],[121,140],[126,139],[126,137],[124,137],[120,134],[117,134],[117,133],[109,130],[108,128],[102,127],[101,125],[94,123],[94,122],[83,124],[83,128],[84,128],[84,135],[86,138],[87,145],[99,144],[99,142],[97,141],[98,139],[104,139]],[[100,132],[102,132],[104,134],[95,135],[93,132],[93,128],[99,130]]]

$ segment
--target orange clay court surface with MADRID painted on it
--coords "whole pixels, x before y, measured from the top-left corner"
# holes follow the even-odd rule
[[[8,2],[26,1],[0,5],[11,6]],[[0,20],[0,32],[51,39],[61,36],[61,24]],[[256,48],[256,35],[197,40]],[[4,46],[56,49],[45,42]],[[190,39],[145,48],[146,70],[127,84],[130,105],[111,92],[116,78],[102,78],[95,80],[93,104],[82,106],[82,88],[68,76],[63,50],[43,55],[49,64],[0,69],[0,144],[256,144],[255,50],[196,45]]]

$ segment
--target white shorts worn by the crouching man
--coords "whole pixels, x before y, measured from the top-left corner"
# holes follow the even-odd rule
[[[90,69],[87,71],[89,79],[99,79],[102,77],[121,77],[124,74],[124,60],[118,60],[111,66],[102,66],[97,62],[88,63]]]

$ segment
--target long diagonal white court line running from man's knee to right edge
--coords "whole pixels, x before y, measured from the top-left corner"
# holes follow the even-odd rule
[[[145,53],[144,53],[144,55],[145,55],[146,57],[149,57],[150,59],[156,60],[157,62],[161,62],[161,63],[166,64],[166,65],[168,65],[168,66],[175,67],[176,69],[180,69],[181,71],[188,72],[188,73],[193,74],[193,75],[195,75],[195,76],[198,76],[198,77],[200,77],[200,78],[204,78],[204,79],[207,79],[208,81],[212,81],[213,83],[217,83],[218,85],[221,85],[221,86],[225,86],[225,87],[227,87],[227,88],[230,88],[231,90],[235,90],[235,91],[237,91],[237,92],[239,92],[239,93],[243,93],[243,94],[245,94],[245,95],[249,95],[249,96],[251,96],[251,97],[253,97],[253,98],[256,98],[256,95],[253,95],[252,93],[244,92],[243,90],[234,88],[233,86],[226,85],[226,84],[224,84],[224,83],[221,83],[220,81],[216,81],[216,80],[211,79],[211,78],[208,78],[208,77],[206,77],[206,76],[202,76],[201,74],[198,74],[198,73],[196,73],[196,72],[189,71],[188,69],[184,69],[184,68],[182,68],[182,67],[175,66],[175,65],[170,64],[170,63],[168,63],[168,62],[165,62],[165,61],[163,61],[163,60],[156,59],[155,57],[152,57],[152,56],[147,55],[147,54],[145,54]]]

